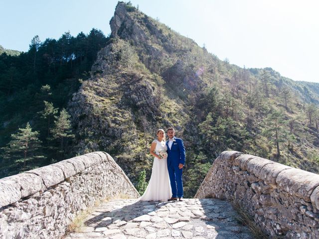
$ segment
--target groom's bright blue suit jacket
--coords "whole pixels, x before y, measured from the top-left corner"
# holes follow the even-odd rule
[[[168,147],[168,140],[166,141],[167,146],[167,166],[178,167],[178,165],[185,164],[185,147],[181,138],[174,137],[174,141],[171,148]]]

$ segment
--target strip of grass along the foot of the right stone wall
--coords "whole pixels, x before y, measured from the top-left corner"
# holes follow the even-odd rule
[[[249,231],[252,233],[255,239],[269,239],[265,229],[259,227],[254,218],[238,203],[232,201],[232,206],[236,210],[238,216],[236,216],[236,220],[238,223],[245,225]],[[266,225],[265,225],[266,226]],[[277,239],[277,237],[272,237],[272,239]]]

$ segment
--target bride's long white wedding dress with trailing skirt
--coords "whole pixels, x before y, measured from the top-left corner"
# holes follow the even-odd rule
[[[156,142],[155,153],[159,155],[161,150],[166,151],[165,141]],[[153,143],[152,142],[152,143]],[[167,170],[167,158],[158,159],[154,157],[152,175],[147,189],[143,196],[139,198],[141,201],[167,201],[171,197],[171,188]]]

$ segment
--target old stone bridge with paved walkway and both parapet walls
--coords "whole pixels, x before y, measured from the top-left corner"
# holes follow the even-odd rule
[[[93,152],[0,179],[0,238],[254,238],[232,201],[270,238],[315,239],[318,186],[317,174],[225,151],[195,199],[140,202],[113,158]]]

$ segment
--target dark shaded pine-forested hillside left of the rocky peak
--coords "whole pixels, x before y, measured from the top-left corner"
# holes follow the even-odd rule
[[[72,156],[65,109],[107,41],[97,29],[42,42],[35,36],[27,52],[0,55],[0,176]]]

